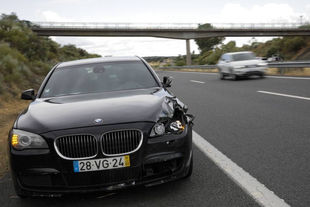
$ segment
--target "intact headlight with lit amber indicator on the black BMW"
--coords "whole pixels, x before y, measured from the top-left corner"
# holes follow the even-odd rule
[[[45,140],[38,134],[13,129],[11,132],[11,144],[15,149],[48,148]]]

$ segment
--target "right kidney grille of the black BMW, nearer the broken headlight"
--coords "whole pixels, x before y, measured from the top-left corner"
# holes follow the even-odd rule
[[[101,136],[101,150],[104,155],[124,155],[137,151],[142,141],[139,129],[111,131]]]

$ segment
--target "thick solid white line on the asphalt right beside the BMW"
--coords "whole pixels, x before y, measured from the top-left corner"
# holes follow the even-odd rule
[[[207,157],[215,162],[220,169],[234,179],[241,188],[259,202],[259,204],[266,207],[289,206],[194,131],[193,142],[207,155]]]

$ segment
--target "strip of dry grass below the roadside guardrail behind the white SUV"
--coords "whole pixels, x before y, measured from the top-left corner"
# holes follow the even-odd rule
[[[182,72],[200,72],[200,73],[218,73],[217,68],[157,68],[154,70],[170,70],[170,71],[182,71]],[[281,70],[278,68],[268,68],[266,71],[268,75],[281,75]],[[310,68],[284,68],[284,75],[300,75],[300,76],[310,76]]]

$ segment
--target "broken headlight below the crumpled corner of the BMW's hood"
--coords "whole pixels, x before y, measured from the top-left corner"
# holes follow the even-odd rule
[[[181,121],[168,119],[167,121],[155,124],[151,131],[150,137],[169,133],[178,134],[181,133],[183,129],[184,124],[182,124]]]

